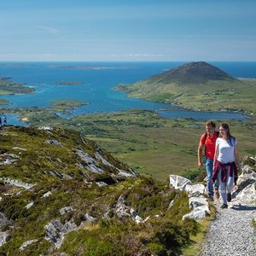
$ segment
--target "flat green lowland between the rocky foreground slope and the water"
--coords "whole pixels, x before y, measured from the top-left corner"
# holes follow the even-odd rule
[[[156,113],[129,110],[116,113],[82,115],[61,119],[49,109],[24,109],[21,116],[32,125],[50,125],[79,131],[124,161],[139,173],[166,181],[169,174],[195,177],[199,137],[205,131],[204,121],[164,119]],[[215,120],[218,125],[221,121]],[[231,133],[239,141],[241,159],[255,155],[253,119],[227,120]]]

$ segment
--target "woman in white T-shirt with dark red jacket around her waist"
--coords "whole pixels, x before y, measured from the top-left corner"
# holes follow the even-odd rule
[[[220,195],[223,205],[221,208],[227,208],[231,201],[231,191],[236,184],[237,170],[240,169],[237,140],[231,136],[230,127],[226,123],[219,126],[219,137],[216,141],[216,148],[213,160],[212,181],[218,179],[220,185]]]

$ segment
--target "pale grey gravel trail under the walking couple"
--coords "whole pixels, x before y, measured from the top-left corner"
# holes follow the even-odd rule
[[[216,220],[211,224],[204,246],[205,256],[255,256],[256,238],[253,219],[256,219],[255,205],[229,203],[221,209],[221,202],[214,201],[217,208]]]

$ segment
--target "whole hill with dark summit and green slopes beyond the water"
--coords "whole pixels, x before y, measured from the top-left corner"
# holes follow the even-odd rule
[[[206,62],[191,62],[116,90],[188,109],[256,114],[256,80],[234,79]]]

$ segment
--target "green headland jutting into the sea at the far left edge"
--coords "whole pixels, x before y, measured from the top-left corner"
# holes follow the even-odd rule
[[[9,78],[0,78],[0,95],[32,93],[33,88],[26,84],[12,82]]]

